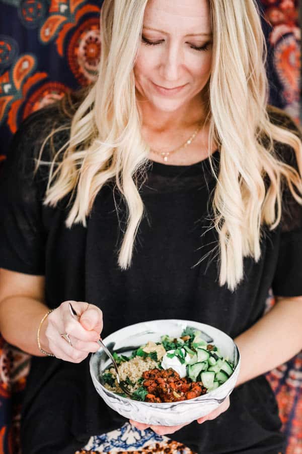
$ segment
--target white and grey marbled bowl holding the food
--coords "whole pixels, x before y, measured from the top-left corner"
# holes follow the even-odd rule
[[[239,350],[233,339],[224,332],[191,320],[152,320],[119,329],[105,337],[103,342],[111,352],[127,356],[148,341],[160,342],[161,335],[179,337],[187,326],[201,331],[206,342],[216,345],[223,357],[228,357],[234,363],[234,372],[228,380],[213,391],[187,401],[161,404],[134,401],[123,398],[102,385],[100,377],[111,360],[100,349],[90,358],[90,373],[96,390],[106,404],[125,418],[163,426],[192,422],[215,410],[233,391],[240,368]]]

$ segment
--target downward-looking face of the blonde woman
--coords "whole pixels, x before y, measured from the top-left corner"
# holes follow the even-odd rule
[[[208,0],[149,0],[134,66],[138,97],[166,112],[193,99],[210,76],[211,32]]]

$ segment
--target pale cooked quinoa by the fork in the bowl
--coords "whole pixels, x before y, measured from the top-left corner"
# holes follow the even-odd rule
[[[159,363],[154,361],[153,359],[147,357],[142,359],[140,356],[135,356],[135,358],[130,359],[129,361],[123,362],[118,366],[118,373],[121,380],[128,379],[134,383],[134,386],[128,385],[128,389],[130,392],[135,391],[137,388],[141,386],[141,384],[137,383],[137,380],[141,378],[142,373],[146,370],[155,369],[159,366]],[[104,373],[111,373],[114,377],[116,377],[116,372],[114,367],[110,369],[106,369]],[[105,388],[109,391],[113,392],[123,392],[123,390],[119,387],[117,379],[114,380],[114,386],[110,386],[108,383],[104,384]]]

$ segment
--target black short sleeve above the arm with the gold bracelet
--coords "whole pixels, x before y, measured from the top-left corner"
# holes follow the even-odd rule
[[[0,267],[43,275],[42,195],[39,177],[34,175],[36,128],[42,126],[38,118],[35,113],[21,125],[0,167]]]

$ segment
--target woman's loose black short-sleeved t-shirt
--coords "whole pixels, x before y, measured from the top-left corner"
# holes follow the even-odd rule
[[[144,320],[182,318],[234,338],[263,315],[270,288],[278,296],[302,295],[302,211],[286,189],[281,223],[272,232],[263,228],[258,263],[244,259],[245,277],[235,292],[219,287],[218,259],[211,252],[217,234],[209,229],[216,182],[208,159],[190,166],[150,163],[140,189],[145,214],[131,267],[122,271],[117,256],[126,210],[113,183],[97,195],[87,228],[66,228],[68,197],[55,208],[42,203],[48,167],[41,165],[34,176],[34,157],[54,119],[59,122],[59,113],[51,107],[23,123],[0,177],[0,266],[45,275],[47,306],[65,300],[99,306],[102,337]],[[284,123],[276,115],[274,120]],[[295,129],[290,121],[287,126]],[[57,149],[68,134],[55,136]],[[276,147],[280,158],[296,165],[292,148]],[[218,171],[218,150],[213,160]],[[123,424],[95,391],[88,363],[32,358],[22,411],[26,454],[70,454],[91,435]],[[193,422],[172,437],[198,453],[275,454],[283,449],[280,426],[274,394],[260,376],[237,387],[230,409],[217,419]]]

